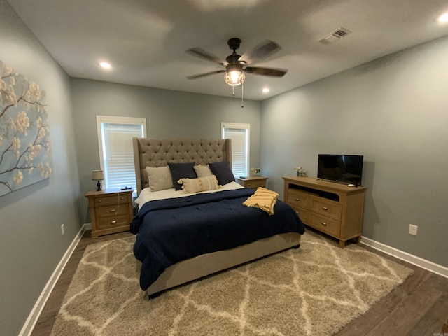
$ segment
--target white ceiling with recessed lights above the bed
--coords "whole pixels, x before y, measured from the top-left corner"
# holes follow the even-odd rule
[[[446,0],[8,0],[71,77],[232,97],[220,59],[267,39],[281,50],[253,66],[288,69],[283,78],[247,74],[244,98],[262,100],[358,64],[448,35],[437,17]],[[352,33],[319,43],[339,27]],[[105,71],[99,62],[111,63]],[[262,93],[269,87],[268,94]],[[241,88],[236,88],[241,97]]]

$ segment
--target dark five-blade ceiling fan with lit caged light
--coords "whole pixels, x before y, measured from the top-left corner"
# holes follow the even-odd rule
[[[261,68],[258,66],[246,66],[248,64],[258,62],[265,57],[272,55],[274,52],[279,51],[280,46],[272,41],[265,41],[258,45],[251,52],[247,52],[244,55],[238,55],[236,50],[239,49],[241,40],[239,38],[230,38],[227,42],[229,48],[233,50],[232,55],[225,58],[225,62],[221,62],[220,59],[211,55],[209,52],[204,51],[200,48],[190,48],[187,50],[192,55],[207,59],[211,62],[215,62],[222,66],[225,66],[225,70],[211,71],[207,73],[200,73],[193,76],[187,76],[188,79],[197,79],[205,76],[214,75],[216,73],[225,72],[224,80],[230,86],[241,85],[246,78],[245,73],[252,73],[254,75],[271,76],[271,77],[283,77],[288,70],[284,69],[272,69],[272,68]]]

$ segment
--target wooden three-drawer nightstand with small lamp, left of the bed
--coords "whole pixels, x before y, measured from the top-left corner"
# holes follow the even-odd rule
[[[85,197],[89,200],[92,233],[90,237],[130,230],[133,218],[132,189],[105,189],[89,191]]]

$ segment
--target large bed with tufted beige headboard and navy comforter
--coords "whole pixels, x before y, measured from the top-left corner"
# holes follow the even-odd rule
[[[151,176],[150,172],[165,171],[164,167],[167,165],[169,165],[170,169],[176,164],[187,162],[193,162],[192,165],[195,165],[195,167],[197,165],[221,167],[224,162],[228,162],[228,165],[231,165],[232,148],[230,139],[133,138],[132,141],[139,212],[132,221],[131,232],[137,235],[134,255],[142,261],[140,286],[148,297],[158,296],[164,290],[200,279],[203,276],[214,274],[288,248],[300,246],[300,237],[304,232],[304,225],[295,211],[280,200],[276,202],[274,216],[269,216],[269,214],[260,209],[244,207],[241,205],[241,200],[251,197],[255,190],[242,188],[235,181],[223,184],[223,187],[219,190],[193,194],[183,194],[183,191],[176,191],[174,188],[155,192],[149,188],[150,180],[148,179],[148,174]],[[151,168],[147,167],[158,169],[151,170]],[[151,179],[154,179],[154,176]],[[192,179],[191,181],[194,180]],[[157,188],[154,189],[156,190]],[[178,206],[181,209],[177,209]],[[221,210],[221,207],[223,207],[223,210]],[[231,220],[229,220],[230,217],[224,218],[225,216],[230,216],[229,209],[232,209],[231,216],[234,216]],[[179,214],[175,211],[179,211]],[[202,211],[212,211],[212,213],[202,214]],[[216,215],[220,211],[223,211],[222,218],[221,215]],[[243,214],[238,214],[237,211],[243,211]],[[191,247],[185,246],[188,251],[179,252],[179,255],[182,255],[184,259],[177,260],[176,258],[179,257],[177,255],[174,256],[174,254],[177,253],[178,247],[184,248],[184,242],[179,240],[179,237],[186,237],[185,244],[187,245],[187,240],[190,239],[187,237],[190,236],[189,232],[194,232],[194,235],[193,233],[191,235],[195,236],[202,231],[204,224],[199,227],[199,223],[203,219],[191,219],[193,222],[188,224],[188,229],[183,222],[176,224],[180,225],[180,228],[175,230],[180,231],[166,234],[168,240],[166,246],[165,242],[162,243],[164,246],[159,246],[161,245],[160,237],[165,235],[165,233],[157,232],[154,234],[151,230],[157,226],[162,227],[162,230],[168,230],[167,228],[172,225],[171,222],[165,220],[165,217],[161,217],[162,215],[167,216],[169,214],[170,217],[176,218],[177,221],[179,218],[185,219],[190,217],[190,214],[195,214],[196,216],[196,212],[200,214],[199,216],[209,216],[207,225],[208,221],[230,224],[227,224],[228,226],[225,227],[225,230],[221,228],[218,229],[221,231],[214,233],[207,231],[207,237],[202,237],[198,240],[201,242],[200,244]],[[236,215],[234,215],[234,212]],[[249,219],[249,217],[246,217],[249,216],[249,213],[255,214],[255,218]],[[228,232],[232,235],[231,230],[234,230],[234,227],[235,230],[241,230],[243,225],[235,224],[239,223],[239,218],[244,218],[244,226],[249,222],[256,222],[257,225],[260,225],[255,230],[251,229],[250,231],[260,231],[263,237],[257,239],[245,237],[246,233],[241,235],[234,234],[234,236],[230,236],[232,239],[224,237]],[[261,225],[265,225],[262,223],[272,221],[272,218],[277,218],[277,221],[281,223],[267,226],[267,229],[262,228]],[[272,229],[273,227],[275,229]],[[170,228],[169,230],[172,229]],[[273,233],[273,230],[285,232]],[[155,235],[155,238],[152,235]],[[214,241],[216,237],[224,238],[218,239],[220,241],[216,242]],[[167,247],[169,244],[172,244],[172,247]],[[196,251],[197,245],[204,245],[204,251],[206,252]],[[160,251],[152,251],[152,248],[157,248],[158,246]],[[217,251],[214,251],[214,249]],[[161,253],[168,253],[168,255],[163,257],[163,262],[155,262],[155,255],[160,255]],[[153,272],[154,269],[158,269],[158,272],[155,274]]]

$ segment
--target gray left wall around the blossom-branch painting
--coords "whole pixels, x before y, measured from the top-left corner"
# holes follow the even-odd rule
[[[0,334],[18,335],[82,222],[69,77],[6,0],[0,31],[0,59],[46,92],[52,145],[50,179],[0,197]]]

